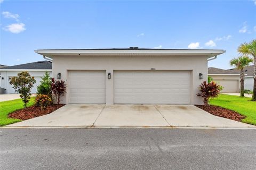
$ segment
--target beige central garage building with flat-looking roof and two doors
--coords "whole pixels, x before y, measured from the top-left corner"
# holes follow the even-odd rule
[[[130,47],[35,53],[53,60],[53,77],[67,82],[64,104],[203,104],[196,94],[207,80],[207,62],[225,51]]]

